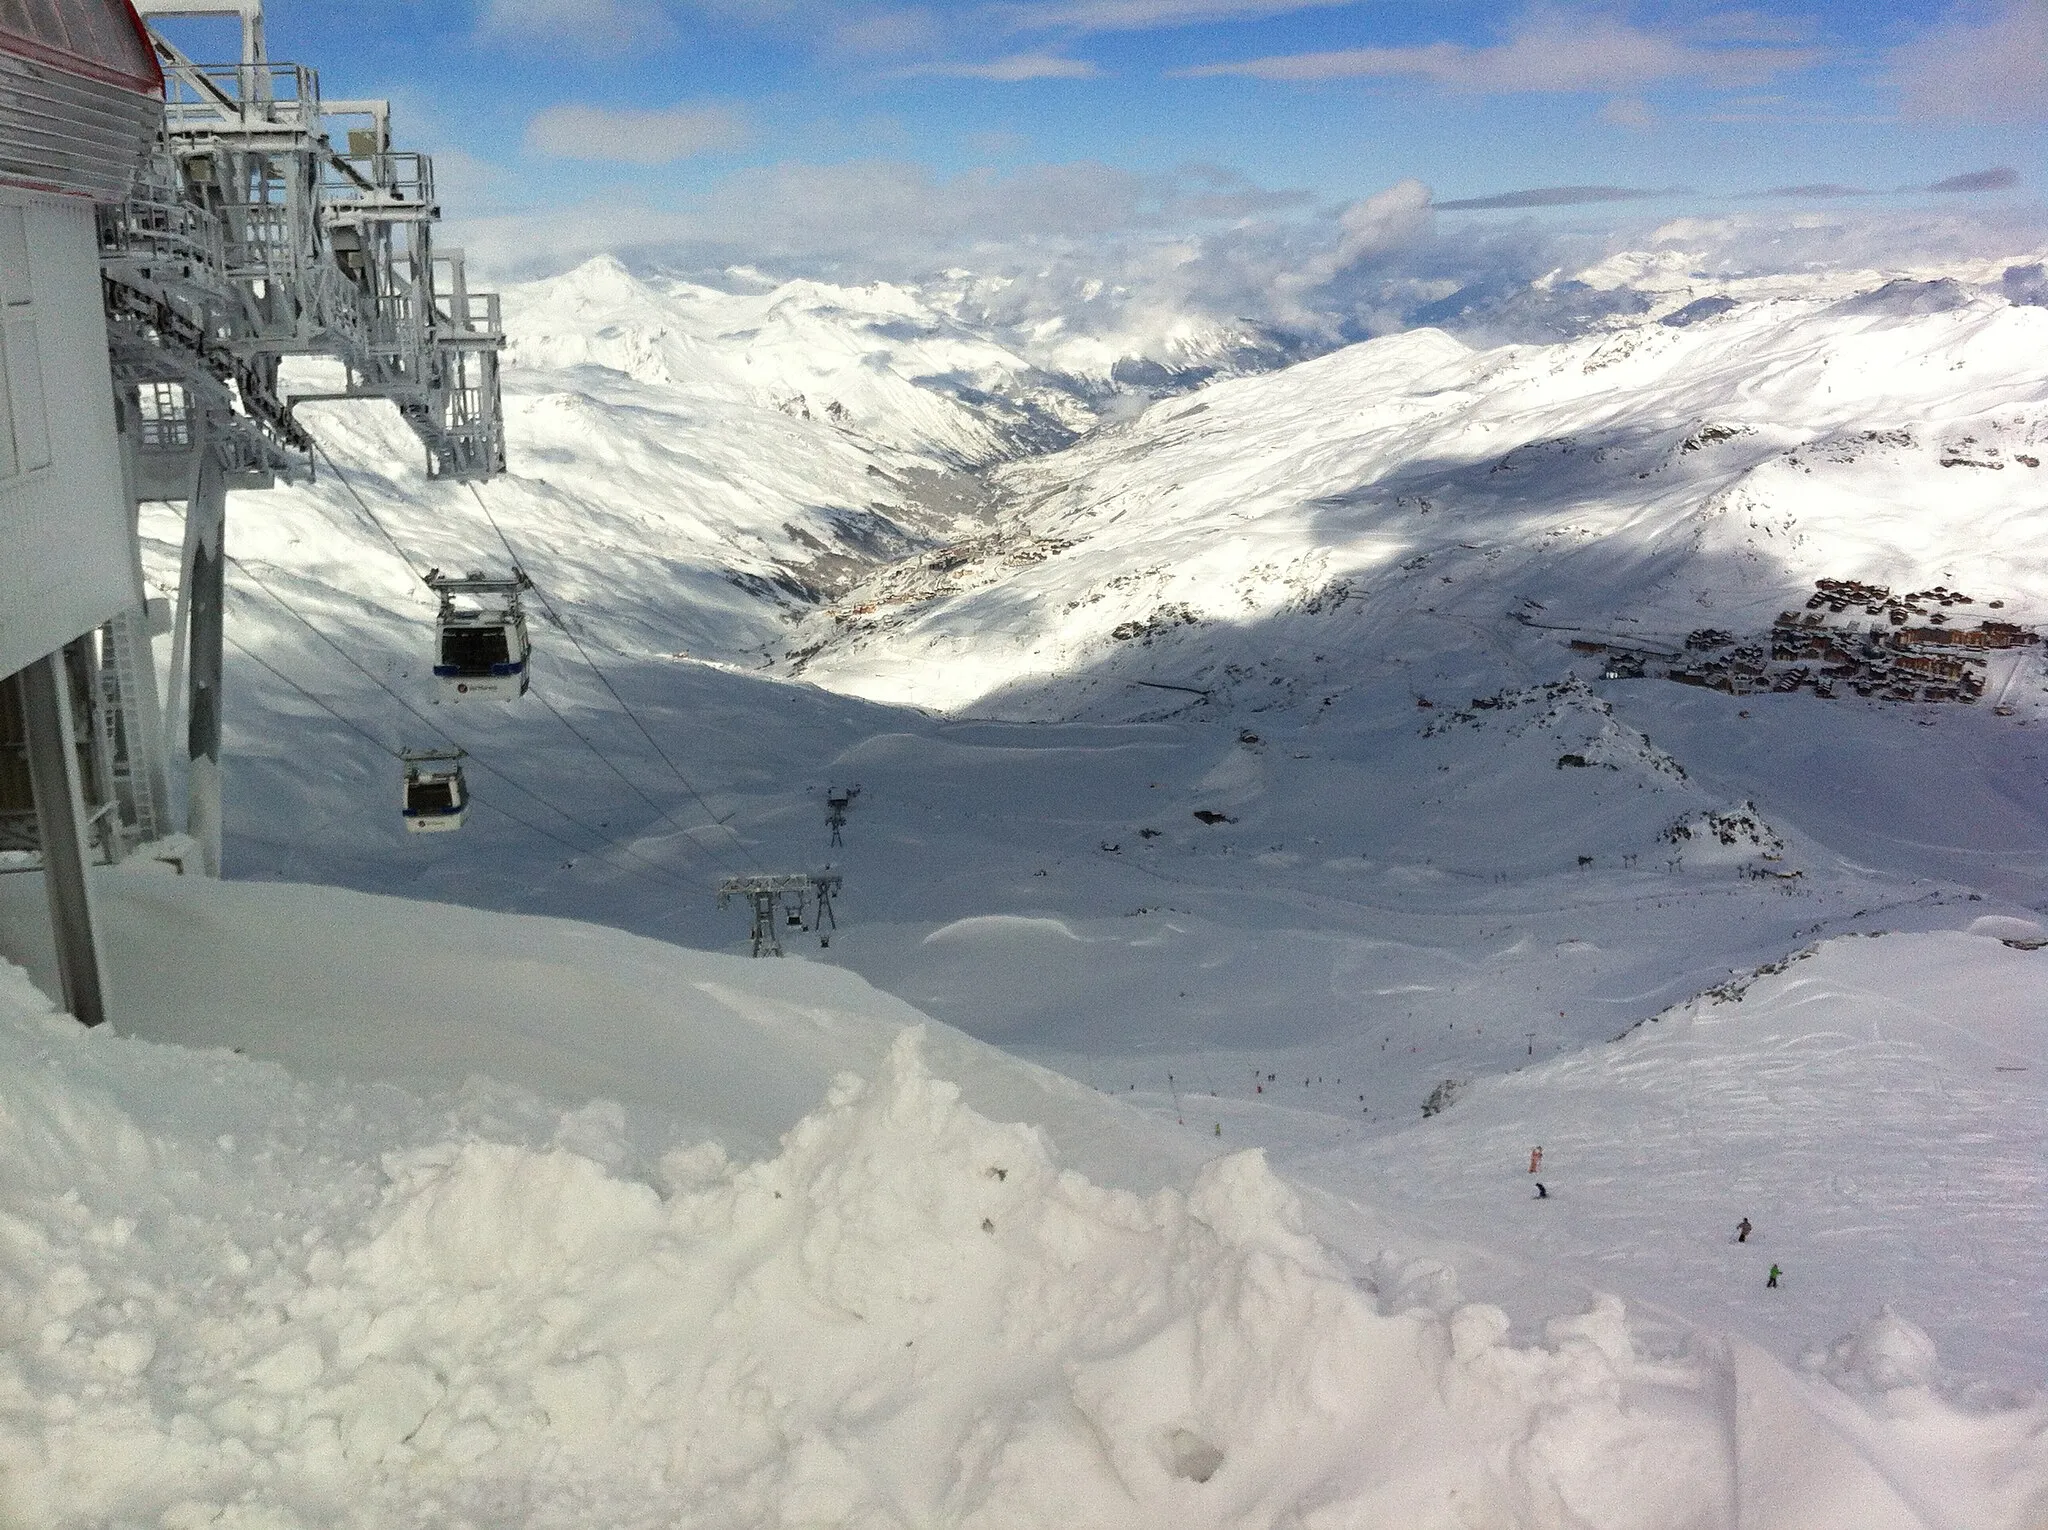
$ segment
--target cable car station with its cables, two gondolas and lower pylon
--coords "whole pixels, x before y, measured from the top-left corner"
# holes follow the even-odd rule
[[[240,55],[209,63],[184,53],[166,27],[190,18],[238,23]],[[408,834],[453,832],[477,801],[465,750],[227,549],[231,490],[311,481],[315,463],[434,594],[432,670],[444,700],[528,694],[530,592],[752,862],[475,492],[506,471],[504,330],[498,297],[469,291],[463,252],[436,248],[438,219],[432,160],[397,145],[389,102],[326,98],[313,70],[270,59],[264,0],[0,0],[0,858],[41,873],[63,1004],[88,1024],[109,1012],[90,864],[147,854],[221,875],[225,647],[393,758]],[[285,363],[299,356],[338,360],[342,387],[293,391]],[[477,498],[510,573],[420,573],[424,559],[391,537],[299,420],[299,406],[319,399],[389,399],[420,438],[426,477]],[[174,600],[147,598],[141,502],[184,508]],[[446,748],[397,748],[233,643],[229,563]],[[170,639],[162,690],[156,637]],[[502,766],[469,762],[539,801]],[[172,811],[178,776],[182,823]],[[834,844],[854,795],[858,787],[827,795]],[[584,850],[496,789],[487,805]],[[629,870],[686,887],[602,823],[541,807],[602,840],[621,864],[639,862]],[[729,877],[719,901],[743,897],[754,952],[782,954],[786,928],[815,928],[829,944],[838,885],[829,873],[774,877],[756,864]]]

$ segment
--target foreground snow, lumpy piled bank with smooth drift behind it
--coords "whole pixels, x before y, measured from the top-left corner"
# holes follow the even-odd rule
[[[2019,1530],[2044,1505],[2040,1405],[1946,1399],[1909,1323],[1845,1340],[1847,1391],[1739,1340],[1645,1348],[1614,1299],[1511,1337],[1442,1258],[1348,1266],[1255,1153],[1186,1190],[1090,1184],[1055,1143],[1094,1129],[1169,1184],[1186,1153],[958,1036],[877,1057],[899,1012],[825,971],[774,973],[764,1004],[758,965],[631,954],[666,969],[676,1024],[737,1032],[756,1067],[868,1073],[748,1161],[692,1139],[696,1112],[758,1135],[780,1108],[707,1090],[686,1053],[645,1067],[670,1110],[315,1061],[336,1018],[496,1053],[520,967],[477,959],[516,930],[524,1008],[563,1004],[528,1040],[573,1065],[567,1028],[602,1016],[563,979],[623,936],[471,918],[444,946],[424,905],[406,934],[401,907],[319,889],[252,916],[233,889],[102,887],[154,905],[137,930],[381,954],[432,973],[438,1008],[315,995],[268,1026],[287,1073],[82,1032],[0,967],[10,1524]],[[262,991],[256,952],[217,952],[219,987]],[[147,1012],[201,1040],[186,1004]],[[1067,1129],[979,1114],[934,1040],[969,1094],[1063,1102]]]

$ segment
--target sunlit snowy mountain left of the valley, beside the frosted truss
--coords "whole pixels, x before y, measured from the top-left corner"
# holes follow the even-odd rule
[[[1202,320],[1020,334],[944,281],[739,272],[729,287],[598,258],[504,297],[508,428],[526,467],[514,492],[584,522],[580,541],[643,543],[668,561],[694,586],[680,604],[725,629],[690,631],[692,651],[743,649],[784,606],[969,535],[987,508],[975,469],[1294,354]]]

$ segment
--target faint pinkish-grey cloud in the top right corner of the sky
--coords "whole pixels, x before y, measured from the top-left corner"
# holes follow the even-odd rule
[[[2048,119],[2048,0],[2007,0],[1892,49],[1907,117],[2019,123]]]

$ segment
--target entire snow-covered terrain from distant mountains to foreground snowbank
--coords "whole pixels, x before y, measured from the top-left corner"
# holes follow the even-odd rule
[[[244,1057],[0,971],[0,1481],[2034,1530],[2048,311],[1995,277],[1620,260],[1559,344],[1192,387],[1284,348],[596,262],[508,295],[475,496],[307,403],[346,481],[229,510],[242,885],[102,879],[123,1028]],[[535,692],[440,696],[416,567],[510,555]],[[436,737],[479,803],[408,836]],[[469,911],[735,952],[717,879],[821,862],[801,963]]]

